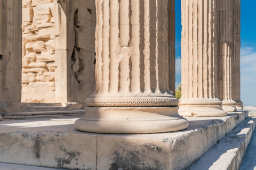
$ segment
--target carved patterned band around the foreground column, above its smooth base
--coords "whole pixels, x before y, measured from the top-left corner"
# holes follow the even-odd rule
[[[85,100],[92,107],[171,107],[179,101],[173,97],[89,97]]]

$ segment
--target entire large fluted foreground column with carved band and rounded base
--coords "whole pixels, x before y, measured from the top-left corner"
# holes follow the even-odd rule
[[[157,133],[186,129],[169,89],[167,0],[96,0],[95,89],[76,129]]]

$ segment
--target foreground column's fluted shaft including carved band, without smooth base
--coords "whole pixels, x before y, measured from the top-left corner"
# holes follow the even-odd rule
[[[97,1],[97,4],[97,77],[94,93],[86,99],[86,104],[176,106],[166,62],[169,60],[165,36],[167,0]]]

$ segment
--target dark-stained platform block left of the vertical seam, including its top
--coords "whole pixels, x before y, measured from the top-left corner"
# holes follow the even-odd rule
[[[76,117],[65,118],[71,120],[3,120],[0,125],[0,161],[34,166],[95,169],[96,135],[75,131],[73,124]],[[5,126],[6,124],[11,125]],[[14,128],[16,125],[25,125],[23,127],[26,128],[17,131]],[[9,144],[12,147],[8,147]],[[6,155],[7,152],[10,155]]]

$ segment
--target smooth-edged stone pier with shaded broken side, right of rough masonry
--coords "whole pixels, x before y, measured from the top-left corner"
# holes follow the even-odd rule
[[[85,106],[94,89],[95,0],[60,0],[55,15],[56,101]]]

